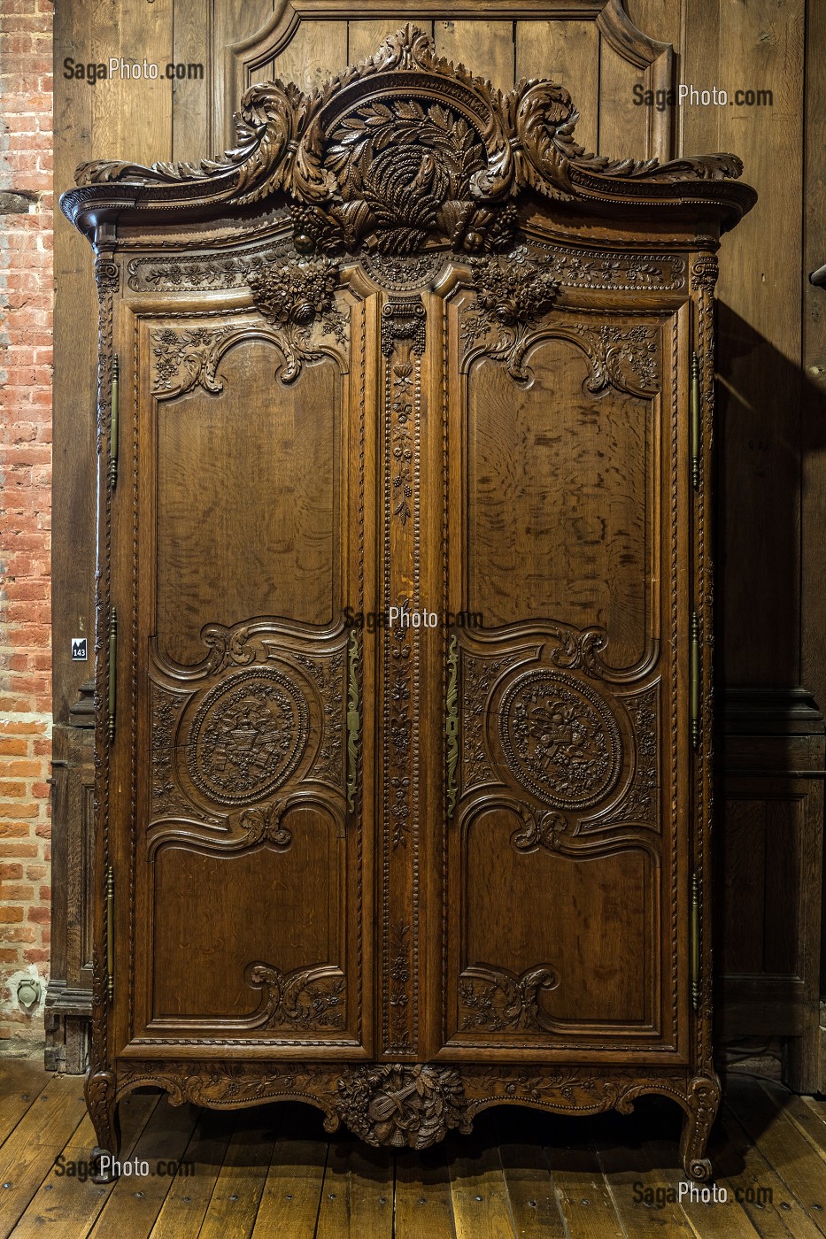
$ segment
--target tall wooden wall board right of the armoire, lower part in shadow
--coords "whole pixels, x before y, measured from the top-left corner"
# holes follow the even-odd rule
[[[770,89],[723,107],[757,208],[724,238],[721,301],[721,607],[728,684],[800,683],[800,356],[804,0],[721,5],[719,85]],[[712,84],[712,83],[709,83]],[[755,560],[755,548],[760,548]]]

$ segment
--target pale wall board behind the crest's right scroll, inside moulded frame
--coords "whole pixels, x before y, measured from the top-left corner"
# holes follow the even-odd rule
[[[579,109],[574,136],[597,150],[599,128],[599,31],[593,21],[518,21],[516,78],[549,77],[571,92]]]

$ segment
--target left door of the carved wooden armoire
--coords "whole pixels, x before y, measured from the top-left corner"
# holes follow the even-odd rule
[[[342,618],[373,579],[371,380],[351,348],[366,312],[314,270],[284,321],[268,271],[259,309],[248,291],[119,307],[108,794],[127,1057],[371,1052],[372,693]]]

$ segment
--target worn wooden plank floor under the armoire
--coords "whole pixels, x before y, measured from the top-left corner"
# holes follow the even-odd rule
[[[487,1111],[470,1136],[396,1156],[291,1104],[216,1114],[146,1090],[122,1123],[122,1156],[155,1173],[61,1173],[94,1142],[82,1079],[0,1059],[0,1239],[826,1237],[826,1103],[747,1075],[712,1136],[728,1199],[711,1204],[678,1198],[681,1116],[659,1098],[629,1118]]]

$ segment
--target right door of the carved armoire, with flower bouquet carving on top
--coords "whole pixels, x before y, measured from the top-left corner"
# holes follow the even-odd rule
[[[470,622],[442,1053],[685,1061],[688,318],[639,294],[561,305],[558,259],[475,260],[448,306],[449,596]]]

